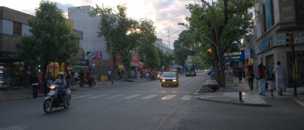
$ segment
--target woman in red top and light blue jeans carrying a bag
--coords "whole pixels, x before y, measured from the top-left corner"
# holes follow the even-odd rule
[[[266,72],[265,72],[265,68],[263,68],[262,63],[260,63],[257,68],[257,75],[261,76],[261,79],[258,79],[260,95],[265,96]]]

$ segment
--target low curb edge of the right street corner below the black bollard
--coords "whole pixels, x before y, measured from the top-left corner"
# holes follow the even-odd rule
[[[211,101],[211,102],[219,102],[219,103],[229,103],[229,104],[237,104],[237,105],[244,105],[244,106],[261,106],[261,107],[271,107],[268,103],[249,103],[249,102],[238,102],[237,98],[231,97],[204,97],[204,96],[196,96],[196,99]]]

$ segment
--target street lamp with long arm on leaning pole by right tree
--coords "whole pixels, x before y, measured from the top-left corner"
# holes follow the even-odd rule
[[[187,26],[187,27],[190,27],[192,28],[193,30],[195,30],[196,32],[198,32],[199,34],[201,34],[202,36],[204,36],[206,39],[208,39],[209,41],[211,41],[208,37],[206,37],[204,34],[202,34],[201,32],[197,31],[195,28],[191,27],[190,25],[187,25],[185,23],[178,23],[178,25],[183,25],[183,26]],[[218,43],[218,37],[216,36],[216,41]],[[225,85],[224,85],[224,76],[223,76],[223,64],[222,64],[222,57],[221,57],[221,54],[219,54],[219,48],[218,46],[213,42],[211,41],[215,47],[216,47],[216,52],[217,52],[217,55],[219,56],[219,73],[220,73],[220,76],[221,76],[221,82],[222,82],[222,86],[223,88],[225,88]]]

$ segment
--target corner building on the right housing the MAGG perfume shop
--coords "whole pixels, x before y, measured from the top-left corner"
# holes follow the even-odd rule
[[[260,0],[255,5],[257,62],[263,63],[272,72],[280,61],[285,70],[286,86],[293,78],[291,48],[286,47],[285,41],[287,32],[294,33],[296,72],[302,78],[298,80],[304,80],[303,9],[303,0]]]

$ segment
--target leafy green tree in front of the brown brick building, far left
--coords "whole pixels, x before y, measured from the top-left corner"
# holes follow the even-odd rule
[[[35,9],[35,14],[35,18],[28,20],[29,32],[32,35],[22,35],[21,41],[16,43],[16,48],[20,58],[26,63],[34,63],[41,59],[42,72],[45,75],[51,61],[67,61],[77,54],[80,46],[66,23],[63,10],[56,2],[42,0]]]

